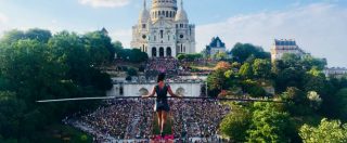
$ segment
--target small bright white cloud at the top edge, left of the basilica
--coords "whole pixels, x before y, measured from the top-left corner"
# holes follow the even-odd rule
[[[130,0],[78,0],[78,2],[93,8],[117,8],[127,5]]]

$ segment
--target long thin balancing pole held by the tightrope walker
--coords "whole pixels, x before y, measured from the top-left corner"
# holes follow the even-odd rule
[[[150,99],[155,99],[151,96]],[[218,101],[239,101],[239,102],[273,102],[273,103],[285,103],[283,101],[274,100],[257,100],[257,99],[236,99],[236,98],[202,98],[202,96],[183,96],[169,99],[195,99],[195,100],[218,100]],[[126,99],[143,99],[142,96],[95,96],[95,98],[74,98],[74,99],[56,99],[56,100],[41,100],[36,101],[37,103],[51,103],[51,102],[70,102],[70,101],[95,101],[95,100],[126,100]]]

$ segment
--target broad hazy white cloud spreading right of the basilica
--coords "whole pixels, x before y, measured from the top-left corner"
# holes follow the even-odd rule
[[[314,3],[287,11],[237,15],[196,27],[196,51],[213,37],[220,36],[232,48],[236,42],[248,42],[270,50],[277,39],[296,39],[314,56],[326,57],[330,66],[347,66],[347,10],[334,4]]]

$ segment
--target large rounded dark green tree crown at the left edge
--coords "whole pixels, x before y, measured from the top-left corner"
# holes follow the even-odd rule
[[[25,101],[34,103],[46,95],[65,74],[64,66],[51,58],[48,46],[37,40],[18,40],[2,52],[0,69],[10,81],[8,90]]]

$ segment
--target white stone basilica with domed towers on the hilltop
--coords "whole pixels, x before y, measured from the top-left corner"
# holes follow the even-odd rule
[[[151,10],[143,1],[138,24],[132,27],[131,48],[149,57],[175,57],[195,53],[195,25],[189,23],[183,0],[153,0]]]

